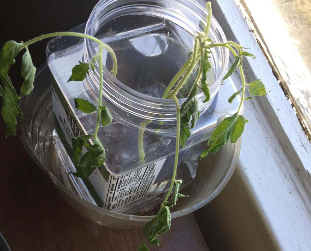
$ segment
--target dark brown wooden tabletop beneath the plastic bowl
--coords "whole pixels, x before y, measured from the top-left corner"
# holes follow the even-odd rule
[[[16,137],[4,137],[0,121],[0,233],[12,251],[137,250],[142,229],[117,230],[76,213],[30,158]],[[150,247],[150,246],[149,246]],[[150,250],[208,250],[193,214],[173,219]]]

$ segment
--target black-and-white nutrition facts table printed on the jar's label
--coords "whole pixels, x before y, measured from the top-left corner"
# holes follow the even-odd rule
[[[104,208],[113,210],[146,196],[164,162],[165,159],[161,159],[122,176],[110,174],[109,191]]]

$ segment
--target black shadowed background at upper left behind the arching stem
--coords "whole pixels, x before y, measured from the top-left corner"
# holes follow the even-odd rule
[[[87,21],[97,2],[98,0],[2,1],[0,46],[8,40],[27,41],[41,34],[70,30]],[[29,47],[36,68],[45,62],[45,46],[48,41],[46,39]],[[20,60],[16,60],[9,72],[16,88],[22,83],[21,55],[18,59]]]

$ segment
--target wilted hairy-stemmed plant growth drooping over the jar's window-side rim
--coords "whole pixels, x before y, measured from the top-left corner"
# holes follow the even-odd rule
[[[217,152],[219,149],[225,146],[229,140],[230,142],[235,143],[242,135],[245,124],[248,122],[248,120],[244,116],[240,115],[239,111],[242,107],[243,101],[251,99],[251,97],[244,98],[246,86],[249,86],[249,94],[251,95],[267,94],[263,83],[259,79],[249,84],[245,83],[243,69],[241,66],[242,59],[244,56],[252,57],[253,59],[255,59],[256,57],[253,54],[246,52],[244,50],[246,48],[233,42],[216,44],[210,38],[208,38],[209,25],[211,21],[210,2],[207,3],[207,9],[209,11],[209,15],[207,16],[207,25],[205,26],[203,25],[203,23],[200,23],[200,28],[202,29],[202,32],[198,32],[197,36],[195,37],[194,50],[189,53],[188,60],[179,70],[176,76],[174,76],[172,82],[169,83],[163,96],[164,98],[173,98],[175,101],[177,121],[180,121],[180,134],[176,135],[176,144],[180,143],[181,147],[184,147],[186,140],[191,134],[190,130],[195,126],[200,114],[199,102],[196,97],[197,93],[199,92],[199,90],[204,93],[205,99],[203,102],[207,102],[210,99],[210,93],[207,83],[207,72],[211,70],[211,63],[209,62],[209,54],[211,53],[211,48],[222,46],[229,49],[234,55],[235,61],[230,66],[222,81],[229,78],[236,71],[236,69],[240,70],[242,78],[242,88],[239,91],[235,92],[233,95],[231,95],[231,97],[228,99],[228,102],[232,103],[234,98],[241,94],[242,97],[240,100],[239,108],[234,115],[226,117],[213,130],[207,143],[207,146],[209,147],[200,154],[200,158],[205,157],[209,153]],[[198,68],[195,74],[195,79],[190,80],[189,76],[192,73],[193,69],[196,67],[196,65],[198,65]],[[176,81],[176,83],[174,83],[174,81]],[[192,84],[192,86],[189,85],[190,83]],[[185,90],[189,90],[186,101],[181,105],[180,109],[178,109],[178,101],[176,102],[177,95],[183,97]],[[176,149],[176,155],[177,153],[178,150]],[[175,158],[174,170],[175,168],[177,168],[176,163],[177,159]],[[168,192],[168,194],[172,193],[172,202],[169,203],[165,199],[165,201],[162,203],[159,213],[145,226],[143,233],[145,236],[148,237],[150,244],[159,245],[159,240],[157,237],[169,229],[169,207],[174,206],[176,204],[177,198],[183,196],[178,192],[181,182],[181,180],[175,180],[173,174],[172,184],[174,184],[175,189],[174,191],[172,191],[172,189],[169,189]],[[147,249],[144,246],[144,249],[142,250]]]

